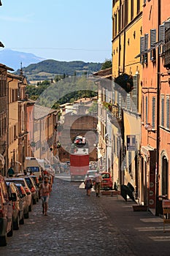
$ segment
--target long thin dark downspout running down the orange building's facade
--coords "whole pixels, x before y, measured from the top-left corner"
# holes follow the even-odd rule
[[[158,0],[158,33],[159,26],[161,25],[161,0]],[[158,34],[159,36],[159,34]],[[159,38],[159,37],[158,37]],[[158,65],[157,65],[157,136],[156,136],[156,164],[155,164],[155,216],[159,216],[158,213],[158,173],[159,173],[159,147],[160,147],[160,56],[159,52],[157,55]]]

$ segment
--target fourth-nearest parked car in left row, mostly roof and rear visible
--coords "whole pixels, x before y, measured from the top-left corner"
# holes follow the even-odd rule
[[[26,179],[24,177],[18,177],[18,178],[12,177],[12,178],[6,178],[6,180],[19,183],[24,187],[24,189],[26,190],[26,195],[28,195],[29,211],[32,211],[33,200],[32,200],[31,190],[29,189],[26,183]]]

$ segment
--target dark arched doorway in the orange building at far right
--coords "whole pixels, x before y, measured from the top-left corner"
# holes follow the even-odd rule
[[[168,161],[162,158],[162,195],[168,195]]]

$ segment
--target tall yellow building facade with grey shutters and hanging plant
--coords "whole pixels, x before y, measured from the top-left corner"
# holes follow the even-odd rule
[[[120,146],[119,154],[115,150],[115,163],[120,172],[120,185],[130,183],[136,199],[140,189],[138,158],[142,100],[142,67],[136,56],[140,53],[143,4],[143,0],[113,0],[112,4],[112,104],[117,105],[121,113],[120,125],[112,127],[115,145]],[[122,86],[115,83],[116,78],[123,78],[124,74],[133,80],[131,91],[122,91]]]

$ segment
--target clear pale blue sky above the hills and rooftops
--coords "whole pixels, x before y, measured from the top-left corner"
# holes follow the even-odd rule
[[[58,61],[112,59],[112,0],[1,0],[4,48]]]

